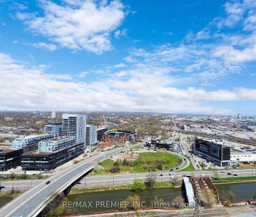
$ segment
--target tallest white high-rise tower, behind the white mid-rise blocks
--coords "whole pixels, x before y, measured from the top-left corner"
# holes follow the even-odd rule
[[[86,146],[86,116],[83,114],[62,114],[62,135],[76,137],[76,144]]]

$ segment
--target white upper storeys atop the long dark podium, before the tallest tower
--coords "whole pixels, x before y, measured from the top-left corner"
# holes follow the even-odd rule
[[[69,148],[76,144],[76,137],[55,137],[50,140],[44,140],[39,142],[38,151],[39,152],[55,152],[61,151],[63,149]]]

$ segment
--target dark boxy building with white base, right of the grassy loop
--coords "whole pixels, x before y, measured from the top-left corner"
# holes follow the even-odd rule
[[[194,154],[225,167],[230,165],[230,147],[218,140],[197,138],[194,142]]]

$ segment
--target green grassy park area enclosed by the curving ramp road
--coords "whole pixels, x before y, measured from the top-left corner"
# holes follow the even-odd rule
[[[157,172],[170,170],[180,165],[181,160],[178,156],[169,153],[141,152],[135,160],[111,160],[106,159],[99,163],[92,174],[111,174],[125,172]]]

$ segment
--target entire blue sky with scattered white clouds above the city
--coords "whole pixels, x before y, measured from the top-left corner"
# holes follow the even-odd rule
[[[0,110],[255,116],[255,66],[255,0],[0,0]]]

